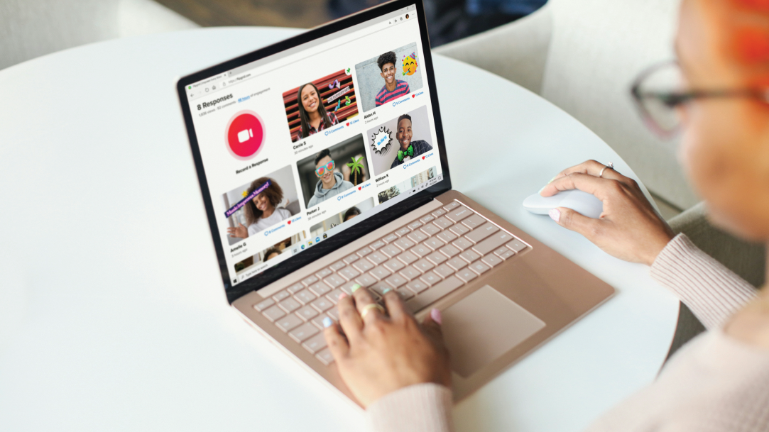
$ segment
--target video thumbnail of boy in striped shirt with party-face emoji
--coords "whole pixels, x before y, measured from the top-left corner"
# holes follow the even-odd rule
[[[363,111],[422,88],[421,58],[417,51],[417,43],[411,42],[355,65]]]

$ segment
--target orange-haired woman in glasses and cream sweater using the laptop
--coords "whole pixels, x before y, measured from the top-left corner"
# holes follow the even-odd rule
[[[684,130],[681,160],[714,222],[764,242],[769,242],[767,41],[767,0],[684,0],[676,39],[684,87],[649,93],[642,82],[635,92],[644,107],[677,109]],[[647,113],[666,125],[660,111]],[[756,294],[686,236],[674,236],[638,185],[617,171],[588,161],[558,174],[541,194],[573,188],[603,201],[601,218],[567,208],[554,209],[551,218],[615,257],[651,265],[652,276],[679,294],[709,329],[682,347],[653,384],[589,430],[767,430],[769,293]],[[451,370],[440,312],[431,311],[420,325],[394,292],[384,299],[389,316],[371,309],[361,319],[358,311],[372,299],[358,289],[340,297],[340,324],[325,323],[341,377],[367,407],[375,430],[451,430]]]

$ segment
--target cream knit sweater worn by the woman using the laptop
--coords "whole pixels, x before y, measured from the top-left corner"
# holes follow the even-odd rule
[[[657,380],[595,420],[589,432],[769,431],[769,351],[728,337],[721,325],[756,291],[679,234],[651,266],[709,331],[681,348]],[[451,390],[406,387],[367,410],[376,432],[448,432]]]

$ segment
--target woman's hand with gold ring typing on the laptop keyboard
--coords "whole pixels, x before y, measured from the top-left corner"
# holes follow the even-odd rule
[[[339,374],[355,397],[368,407],[380,397],[414,384],[451,387],[440,312],[432,311],[418,324],[394,291],[384,294],[384,303],[389,316],[368,307],[361,318],[366,305],[375,302],[368,290],[358,288],[352,296],[339,298],[339,324],[325,329]]]

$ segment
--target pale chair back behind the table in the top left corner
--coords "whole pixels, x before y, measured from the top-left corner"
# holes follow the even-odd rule
[[[0,69],[92,42],[196,27],[152,0],[2,0]]]

